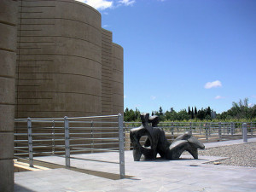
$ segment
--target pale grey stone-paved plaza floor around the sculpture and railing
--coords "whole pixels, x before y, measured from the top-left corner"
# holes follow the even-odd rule
[[[256,138],[248,139],[256,142]],[[206,148],[239,144],[242,140],[205,143]],[[118,179],[119,154],[76,154],[90,160],[71,160],[73,169],[59,168],[38,172],[16,172],[15,191],[256,191],[256,168],[205,164],[224,157],[183,155],[181,160],[133,161],[125,151],[125,179]],[[60,157],[40,157],[64,165]],[[83,171],[84,170],[84,171]],[[90,174],[88,174],[90,173]]]

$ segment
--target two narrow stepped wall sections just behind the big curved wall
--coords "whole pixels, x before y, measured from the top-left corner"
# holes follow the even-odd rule
[[[102,29],[102,114],[124,112],[124,50]]]

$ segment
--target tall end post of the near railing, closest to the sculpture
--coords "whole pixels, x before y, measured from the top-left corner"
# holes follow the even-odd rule
[[[124,118],[119,113],[119,169],[120,169],[120,178],[125,178],[125,148],[124,148]]]

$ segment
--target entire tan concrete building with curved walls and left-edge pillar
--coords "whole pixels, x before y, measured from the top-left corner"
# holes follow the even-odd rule
[[[0,191],[14,183],[14,119],[123,113],[123,49],[73,0],[0,1]]]

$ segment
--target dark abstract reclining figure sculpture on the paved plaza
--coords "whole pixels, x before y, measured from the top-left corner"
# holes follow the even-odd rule
[[[149,117],[149,113],[142,113],[141,119],[142,125],[130,131],[135,161],[140,160],[142,155],[145,160],[154,160],[157,154],[160,154],[160,157],[166,160],[177,160],[183,151],[188,151],[195,159],[198,159],[198,148],[205,148],[203,143],[192,136],[191,131],[177,137],[171,144],[166,139],[165,132],[157,127],[159,123],[158,116]],[[152,123],[152,126],[148,123]],[[144,146],[139,142],[143,136],[148,137]]]

